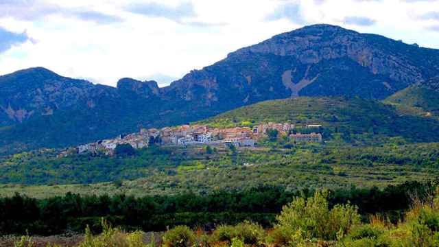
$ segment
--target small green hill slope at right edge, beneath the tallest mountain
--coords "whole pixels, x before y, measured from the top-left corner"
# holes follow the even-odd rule
[[[427,86],[410,86],[385,99],[403,114],[439,119],[439,92]]]

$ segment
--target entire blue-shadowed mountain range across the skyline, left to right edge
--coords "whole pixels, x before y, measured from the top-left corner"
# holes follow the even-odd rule
[[[114,88],[25,69],[0,77],[0,153],[184,124],[269,99],[384,99],[438,74],[439,50],[333,25],[276,35],[164,88],[130,78]]]

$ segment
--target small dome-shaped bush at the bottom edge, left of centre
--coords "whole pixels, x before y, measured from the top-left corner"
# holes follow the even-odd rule
[[[163,235],[163,246],[187,247],[195,243],[195,234],[187,226],[176,226]]]

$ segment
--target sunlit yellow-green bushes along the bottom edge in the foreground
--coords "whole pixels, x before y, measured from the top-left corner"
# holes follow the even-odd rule
[[[166,231],[159,244],[174,246],[439,246],[439,198],[433,191],[414,197],[410,209],[394,224],[379,215],[361,222],[359,208],[349,202],[331,207],[328,191],[316,191],[307,198],[295,197],[276,216],[270,230],[257,223],[219,225],[213,231],[175,226]],[[126,233],[102,220],[103,233],[92,235],[86,227],[80,247],[153,247],[155,238],[145,233]],[[154,236],[153,236],[154,237]],[[31,246],[32,238],[22,237],[16,246]]]

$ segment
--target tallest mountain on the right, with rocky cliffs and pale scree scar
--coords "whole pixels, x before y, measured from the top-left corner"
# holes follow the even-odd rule
[[[342,27],[312,25],[239,49],[165,90],[205,106],[291,96],[383,99],[439,72],[439,51]]]

